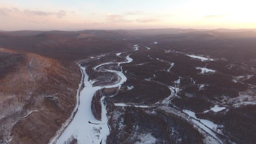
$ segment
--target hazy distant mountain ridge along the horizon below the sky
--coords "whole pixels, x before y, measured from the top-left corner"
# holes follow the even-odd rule
[[[0,30],[2,31],[2,30]],[[156,28],[156,29],[137,29],[137,30],[82,30],[82,31],[33,31],[33,30],[22,30],[22,31],[2,31],[6,34],[12,34],[15,36],[34,36],[41,33],[51,33],[62,37],[73,37],[73,38],[87,38],[87,37],[102,37],[109,39],[124,39],[127,37],[134,36],[156,36],[160,34],[183,34],[191,32],[206,32],[206,31],[215,31],[222,33],[235,33],[235,32],[245,32],[245,31],[254,31],[256,29],[182,29],[182,28]]]

